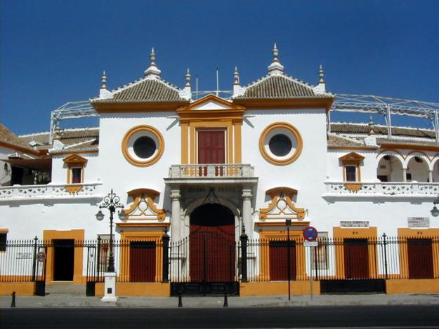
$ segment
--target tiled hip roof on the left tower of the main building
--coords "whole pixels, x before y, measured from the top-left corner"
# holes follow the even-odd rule
[[[181,98],[180,91],[159,77],[144,78],[112,90],[112,98],[95,98],[91,102],[188,102]]]

